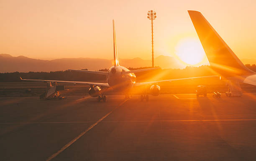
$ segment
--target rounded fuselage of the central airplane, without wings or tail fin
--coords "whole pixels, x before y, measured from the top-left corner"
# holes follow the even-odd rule
[[[123,66],[112,66],[108,70],[107,82],[114,91],[128,91],[136,83],[134,73],[123,74],[123,71],[130,71]]]

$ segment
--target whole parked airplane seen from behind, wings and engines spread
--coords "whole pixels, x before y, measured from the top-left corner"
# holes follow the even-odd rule
[[[114,66],[110,67],[107,72],[104,71],[92,71],[92,70],[75,70],[69,69],[69,71],[81,72],[81,73],[94,73],[94,74],[101,74],[106,75],[107,83],[97,83],[97,82],[80,82],[80,81],[54,81],[54,80],[37,80],[37,79],[23,79],[23,81],[42,81],[42,82],[52,82],[56,83],[80,83],[80,84],[88,84],[90,85],[89,88],[89,95],[91,97],[97,97],[98,101],[106,101],[106,96],[102,88],[111,88],[113,91],[125,91],[127,94],[125,97],[129,97],[129,91],[138,86],[146,86],[151,85],[149,88],[149,94],[152,96],[158,96],[160,93],[160,86],[157,83],[160,82],[171,82],[177,80],[186,80],[186,79],[194,79],[194,78],[206,78],[206,77],[216,77],[216,75],[212,76],[202,76],[202,77],[192,77],[192,78],[179,78],[179,79],[170,79],[170,80],[162,80],[162,81],[150,81],[150,82],[136,82],[136,75],[134,73],[148,71],[148,70],[156,70],[158,68],[147,68],[147,69],[140,69],[140,70],[128,70],[127,68],[119,65],[118,61],[118,51],[116,45],[116,38],[115,38],[115,22],[113,20],[113,49],[114,49]],[[145,93],[141,95],[141,101],[145,99],[148,101],[148,94]]]

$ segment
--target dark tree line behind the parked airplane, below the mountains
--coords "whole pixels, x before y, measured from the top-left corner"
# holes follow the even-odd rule
[[[246,67],[256,72],[256,65],[246,64]],[[128,68],[138,70],[152,67]],[[87,69],[84,69],[87,70]],[[101,69],[99,71],[108,71]],[[216,75],[208,65],[200,67],[187,66],[184,69],[157,69],[136,73],[137,80],[163,80],[175,78],[187,78],[197,76]],[[60,80],[60,81],[105,81],[105,75],[92,73],[81,73],[74,71],[52,71],[52,72],[28,72],[28,73],[0,73],[0,82],[20,82],[20,77],[24,79]]]

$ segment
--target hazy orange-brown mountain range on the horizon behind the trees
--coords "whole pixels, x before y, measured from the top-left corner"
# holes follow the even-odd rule
[[[243,61],[243,60],[242,60]],[[245,59],[243,63],[253,62],[254,59]],[[151,60],[141,58],[120,59],[120,65],[125,67],[140,68],[150,67]],[[160,55],[154,59],[155,66],[161,68],[185,68],[185,66],[174,57]],[[98,58],[61,58],[54,60],[40,60],[28,58],[25,56],[11,56],[9,54],[0,54],[0,73],[6,72],[49,72],[67,69],[88,69],[100,70],[109,68],[113,65],[113,60]]]

